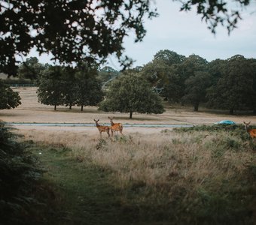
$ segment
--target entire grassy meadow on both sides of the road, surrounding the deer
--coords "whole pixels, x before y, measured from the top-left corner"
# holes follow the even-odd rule
[[[84,112],[38,104],[35,88],[20,89],[23,104],[2,110],[4,121],[93,122],[108,116],[95,107]],[[125,127],[124,136],[99,138],[96,127],[14,126],[44,168],[48,224],[255,224],[256,142],[242,121],[189,108],[163,115],[114,113],[123,124],[194,124],[190,128]],[[212,125],[230,119],[237,125]]]

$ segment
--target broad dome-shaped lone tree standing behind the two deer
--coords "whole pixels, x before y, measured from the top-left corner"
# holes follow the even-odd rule
[[[163,113],[163,104],[151,85],[138,74],[125,74],[117,77],[109,87],[105,101],[99,110],[106,112]]]

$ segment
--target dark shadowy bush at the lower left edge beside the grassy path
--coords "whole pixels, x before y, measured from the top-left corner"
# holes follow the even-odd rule
[[[0,124],[0,217],[2,224],[31,224],[29,214],[40,205],[33,196],[41,177],[37,160],[14,140],[14,135]]]

